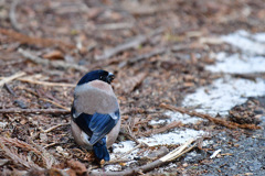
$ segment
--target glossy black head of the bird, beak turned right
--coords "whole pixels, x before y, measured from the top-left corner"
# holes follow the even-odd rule
[[[77,85],[83,85],[93,80],[102,80],[110,84],[113,79],[114,79],[114,74],[108,73],[106,70],[98,69],[98,70],[93,70],[87,73],[85,76],[81,78]]]

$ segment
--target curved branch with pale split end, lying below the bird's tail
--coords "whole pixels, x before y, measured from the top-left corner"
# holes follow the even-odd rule
[[[193,143],[194,140],[190,140],[187,143],[184,143],[183,145],[179,146],[178,148],[176,148],[174,151],[168,153],[166,156],[148,163],[144,166],[139,166],[139,167],[135,167],[131,169],[127,169],[124,172],[97,172],[97,170],[88,170],[88,175],[89,176],[94,176],[94,175],[105,175],[105,176],[119,176],[119,175],[136,175],[139,172],[149,172],[156,167],[159,167],[161,165],[165,165],[169,162],[172,162],[173,160],[178,158],[179,156],[183,155],[184,153],[191,151],[192,148],[194,148],[197,146],[197,143],[194,143],[192,146],[188,147],[191,143]],[[187,148],[188,147],[188,148]]]

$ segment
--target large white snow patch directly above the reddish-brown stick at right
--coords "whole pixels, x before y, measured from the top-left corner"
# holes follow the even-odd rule
[[[182,105],[183,107],[198,107],[195,108],[198,112],[222,116],[227,114],[234,106],[245,102],[247,97],[263,95],[265,95],[265,80],[252,81],[227,76],[188,95]]]

